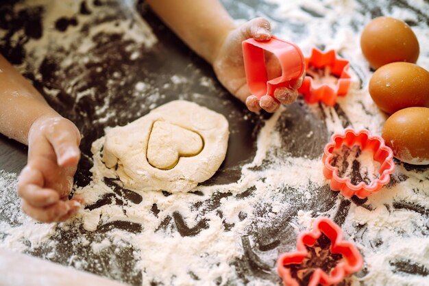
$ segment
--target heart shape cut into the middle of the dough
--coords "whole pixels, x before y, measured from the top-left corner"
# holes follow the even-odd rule
[[[165,121],[155,121],[147,144],[147,161],[161,170],[170,170],[180,157],[193,157],[203,149],[201,135]]]

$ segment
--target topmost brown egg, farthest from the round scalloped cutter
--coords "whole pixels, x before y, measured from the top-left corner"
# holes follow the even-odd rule
[[[410,26],[390,17],[369,22],[360,36],[363,55],[373,68],[391,62],[417,62],[419,42]]]

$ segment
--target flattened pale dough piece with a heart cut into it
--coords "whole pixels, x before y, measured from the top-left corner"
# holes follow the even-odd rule
[[[228,121],[206,107],[171,101],[106,133],[103,161],[132,190],[188,192],[219,169]]]

